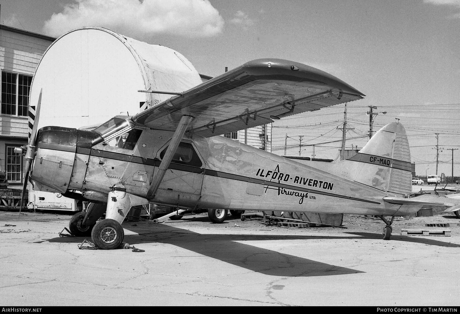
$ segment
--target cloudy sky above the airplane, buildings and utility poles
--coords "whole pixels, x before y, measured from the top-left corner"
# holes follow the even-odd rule
[[[259,58],[305,63],[366,97],[347,104],[346,148],[396,118],[416,174],[460,176],[460,0],[0,0],[0,23],[59,37],[83,26],[181,52],[217,76]],[[273,123],[276,154],[338,158],[344,105]],[[386,112],[385,114],[382,112]],[[438,135],[437,135],[438,134]],[[437,146],[438,143],[438,146]],[[306,145],[306,146],[304,146]],[[313,146],[315,145],[315,146]],[[438,147],[438,150],[436,149]],[[456,150],[459,149],[459,150]]]

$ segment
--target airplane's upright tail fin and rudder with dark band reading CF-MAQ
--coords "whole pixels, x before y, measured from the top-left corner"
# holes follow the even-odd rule
[[[409,143],[402,124],[385,125],[348,160],[357,162],[352,165],[355,181],[382,191],[412,192]]]

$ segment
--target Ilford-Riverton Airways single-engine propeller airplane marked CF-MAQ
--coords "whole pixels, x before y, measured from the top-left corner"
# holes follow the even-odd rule
[[[92,202],[70,228],[77,236],[91,234],[101,249],[118,247],[130,208],[148,203],[210,208],[213,222],[222,222],[227,210],[375,215],[385,222],[384,239],[395,216],[444,204],[408,197],[411,159],[400,123],[386,125],[356,156],[336,163],[299,163],[216,136],[363,98],[340,79],[297,62],[247,62],[93,129],[37,131],[42,92],[22,148],[26,177],[34,190]]]

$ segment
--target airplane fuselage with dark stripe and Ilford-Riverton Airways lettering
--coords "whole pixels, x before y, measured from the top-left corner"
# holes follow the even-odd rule
[[[114,187],[146,197],[173,132],[138,129],[133,148],[100,141],[98,134],[68,128],[40,130],[31,178],[34,189],[81,191],[107,202]],[[142,132],[141,132],[142,131]],[[127,135],[129,136],[129,135]],[[125,147],[125,148],[123,148]],[[340,162],[339,162],[340,163]],[[389,194],[355,182],[343,167],[299,163],[222,136],[181,140],[155,196],[149,201],[180,208],[395,215],[418,208],[382,201]],[[325,169],[328,169],[326,171]]]

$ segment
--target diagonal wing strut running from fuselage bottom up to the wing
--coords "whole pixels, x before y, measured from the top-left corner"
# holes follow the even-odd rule
[[[161,180],[165,176],[166,170],[169,168],[171,160],[173,160],[173,156],[176,153],[180,140],[182,140],[182,137],[184,136],[184,133],[192,119],[193,117],[191,116],[182,116],[180,119],[177,129],[174,132],[173,138],[171,139],[171,142],[169,143],[169,146],[166,150],[165,156],[161,160],[158,171],[152,179],[149,191],[147,191],[147,199],[152,199],[155,196],[155,193],[160,186]]]

